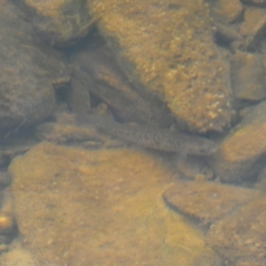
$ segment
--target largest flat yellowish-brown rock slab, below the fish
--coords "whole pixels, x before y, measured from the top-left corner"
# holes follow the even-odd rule
[[[217,261],[200,231],[164,206],[173,176],[159,159],[42,143],[9,171],[22,247],[37,266]]]

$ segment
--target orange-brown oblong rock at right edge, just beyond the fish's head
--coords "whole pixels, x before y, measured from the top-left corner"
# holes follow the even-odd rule
[[[226,182],[254,178],[266,151],[266,102],[248,113],[243,121],[225,137],[218,151],[208,159],[216,176]]]

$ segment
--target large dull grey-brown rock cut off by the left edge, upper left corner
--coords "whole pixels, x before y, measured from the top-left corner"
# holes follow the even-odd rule
[[[55,106],[52,80],[65,73],[59,53],[43,45],[11,3],[0,9],[0,129],[40,121]]]

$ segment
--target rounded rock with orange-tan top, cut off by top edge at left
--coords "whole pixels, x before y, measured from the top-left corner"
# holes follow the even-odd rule
[[[87,35],[91,20],[86,0],[24,0],[23,7],[38,34],[49,43],[69,46]]]

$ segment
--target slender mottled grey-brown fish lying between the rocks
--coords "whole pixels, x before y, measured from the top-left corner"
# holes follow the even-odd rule
[[[218,148],[212,140],[205,137],[172,132],[169,129],[130,126],[97,115],[88,115],[83,118],[82,123],[84,122],[95,126],[100,133],[165,152],[208,155],[215,153]]]

